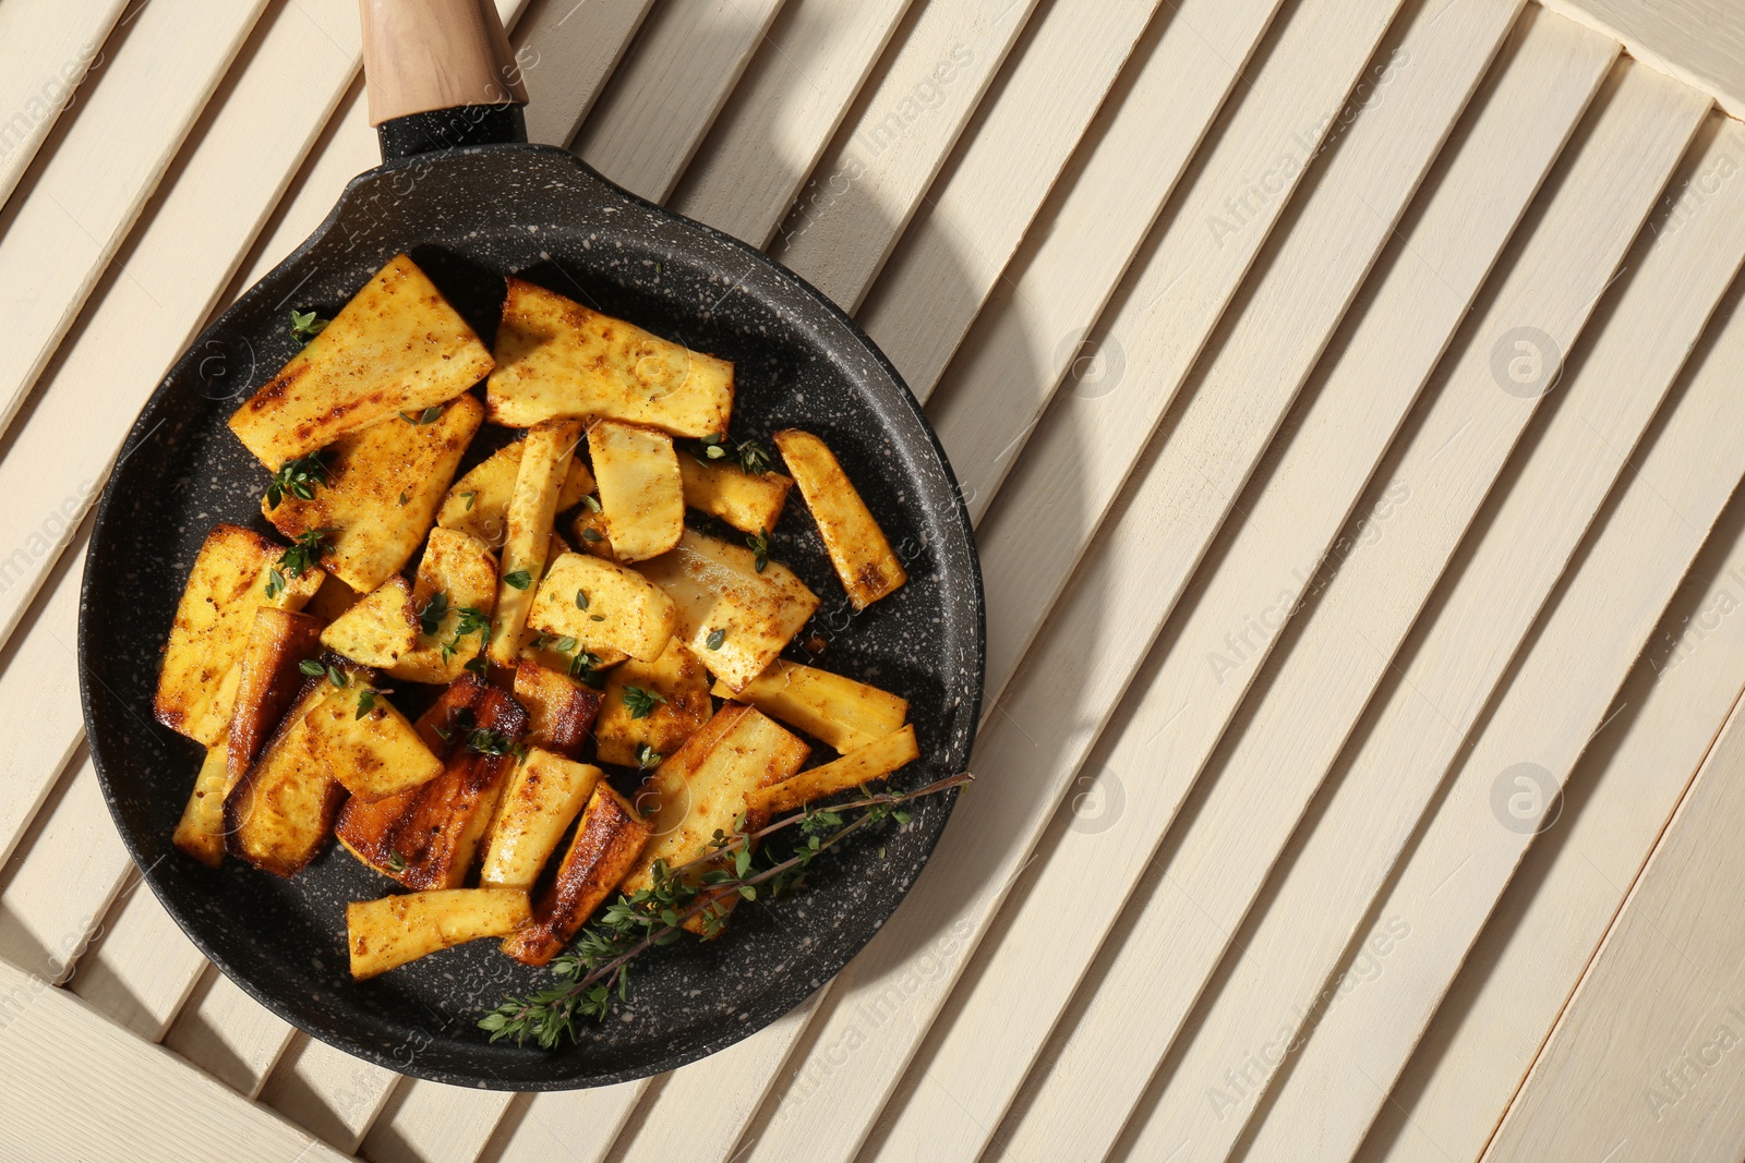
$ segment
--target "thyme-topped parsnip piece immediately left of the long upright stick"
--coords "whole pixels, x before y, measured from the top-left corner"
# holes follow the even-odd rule
[[[478,537],[433,528],[412,586],[419,643],[387,673],[407,682],[454,682],[483,650],[496,603],[497,554]],[[426,624],[435,633],[424,633]]]

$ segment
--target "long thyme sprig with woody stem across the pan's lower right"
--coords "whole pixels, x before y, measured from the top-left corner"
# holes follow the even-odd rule
[[[909,823],[911,816],[902,804],[949,792],[974,778],[963,772],[914,792],[885,792],[829,809],[806,807],[756,832],[743,830],[742,816],[733,833],[717,830],[710,849],[701,856],[677,868],[656,861],[649,888],[619,894],[599,921],[576,935],[569,950],[551,961],[557,985],[525,997],[506,997],[480,1018],[478,1027],[490,1034],[490,1041],[508,1037],[525,1044],[534,1039],[541,1050],[551,1050],[565,1037],[578,1041],[576,1020],[604,1018],[614,1001],[628,999],[630,962],[651,949],[679,940],[686,922],[701,919],[703,936],[717,936],[731,900],[757,900],[764,886],[771,898],[780,900],[799,888],[813,860],[855,832],[885,820]],[[843,813],[852,811],[860,811],[860,816],[845,823]],[[799,826],[806,837],[797,851],[757,868],[757,840],[790,826]]]

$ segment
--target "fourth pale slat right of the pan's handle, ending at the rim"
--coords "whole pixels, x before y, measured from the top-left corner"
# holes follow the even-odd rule
[[[923,7],[825,150],[770,253],[853,312],[1035,5]]]

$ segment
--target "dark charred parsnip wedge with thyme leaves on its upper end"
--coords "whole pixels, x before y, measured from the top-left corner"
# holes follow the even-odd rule
[[[525,729],[527,711],[487,687],[473,708],[454,708],[440,776],[380,800],[346,800],[335,833],[358,860],[407,888],[461,888]]]

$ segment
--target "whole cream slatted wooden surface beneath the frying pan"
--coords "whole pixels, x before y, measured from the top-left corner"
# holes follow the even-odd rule
[[[375,162],[354,2],[0,0],[0,1158],[1745,1156],[1745,19],[1637,9],[499,0],[534,139],[885,347],[989,600],[869,949],[517,1097],[250,1001],[82,746],[87,511]]]

